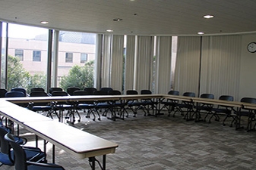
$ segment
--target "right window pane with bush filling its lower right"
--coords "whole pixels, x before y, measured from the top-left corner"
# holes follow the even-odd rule
[[[59,32],[57,86],[93,87],[96,34]]]

